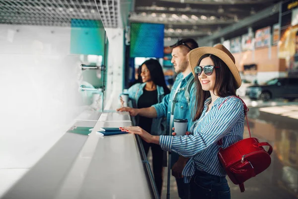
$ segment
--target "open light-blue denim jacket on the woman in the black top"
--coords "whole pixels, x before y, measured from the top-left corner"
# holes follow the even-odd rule
[[[125,94],[129,95],[129,99],[132,101],[133,108],[138,108],[138,100],[143,95],[143,89],[146,86],[146,83],[143,84],[135,84],[131,86]],[[157,101],[160,103],[164,97],[163,88],[157,86]],[[135,117],[137,126],[139,124],[139,117]],[[165,117],[156,117],[152,118],[152,125],[151,125],[151,135],[165,135],[167,132],[166,128],[166,118]]]

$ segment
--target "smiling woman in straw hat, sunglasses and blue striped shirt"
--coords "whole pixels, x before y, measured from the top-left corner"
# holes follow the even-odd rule
[[[222,147],[226,148],[243,139],[243,103],[231,97],[236,95],[241,78],[234,57],[221,44],[196,48],[189,52],[188,58],[197,89],[191,134],[152,136],[138,126],[122,130],[139,134],[163,150],[190,157],[182,174],[185,183],[190,183],[192,199],[230,199],[226,173],[217,156],[217,143],[223,139]]]

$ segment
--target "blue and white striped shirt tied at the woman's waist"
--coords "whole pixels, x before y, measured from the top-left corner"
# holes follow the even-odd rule
[[[226,100],[227,98],[229,99]],[[225,176],[224,167],[217,156],[217,142],[223,138],[223,148],[226,148],[243,139],[242,101],[235,97],[218,98],[206,113],[210,102],[211,98],[205,101],[201,117],[190,129],[191,135],[159,136],[159,144],[163,150],[190,157],[182,172],[185,183],[190,182],[196,169],[216,176]]]

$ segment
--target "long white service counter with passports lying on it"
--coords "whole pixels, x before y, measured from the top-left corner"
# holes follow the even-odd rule
[[[127,112],[104,112],[89,136],[66,132],[2,199],[159,198],[140,138],[96,133],[129,125]]]

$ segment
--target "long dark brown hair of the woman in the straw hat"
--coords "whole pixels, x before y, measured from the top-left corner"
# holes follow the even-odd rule
[[[214,92],[221,98],[227,97],[227,96],[235,96],[236,95],[236,80],[234,76],[232,75],[231,71],[227,67],[227,65],[217,56],[206,54],[203,55],[200,60],[198,61],[197,66],[200,66],[200,63],[202,59],[210,57],[214,63],[214,66],[219,66],[220,68],[214,68],[216,71],[216,79],[215,79],[215,86],[214,86]],[[196,82],[196,105],[195,110],[196,113],[194,115],[193,121],[198,120],[202,112],[204,110],[204,104],[205,100],[207,100],[210,97],[209,91],[203,91],[202,85],[200,83],[200,80],[198,76],[195,76],[195,82]]]

